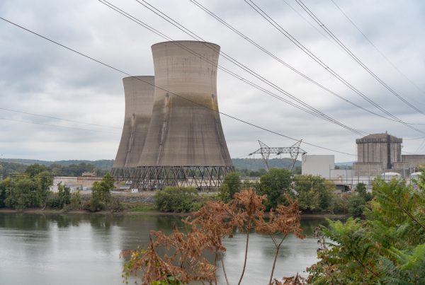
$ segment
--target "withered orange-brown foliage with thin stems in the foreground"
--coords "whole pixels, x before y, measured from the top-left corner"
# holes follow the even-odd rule
[[[289,196],[286,199],[288,206],[278,205],[276,212],[270,211],[268,220],[264,219],[263,202],[266,202],[266,196],[259,196],[254,190],[237,192],[228,203],[206,202],[193,218],[183,220],[187,233],[181,233],[177,228],[170,235],[151,231],[149,248],[123,252],[123,256],[130,257],[124,266],[124,276],[143,272],[142,284],[187,284],[190,281],[217,284],[215,272],[217,262],[221,262],[225,281],[229,284],[223,260],[226,248],[222,240],[232,237],[237,229],[246,234],[244,266],[239,284],[244,277],[251,231],[269,235],[273,240],[276,250],[269,284],[283,284],[273,280],[280,246],[290,233],[298,238],[304,237],[300,228],[298,204]],[[166,253],[160,255],[159,252],[163,252],[164,248]],[[205,252],[212,252],[215,256],[213,262],[205,258]]]

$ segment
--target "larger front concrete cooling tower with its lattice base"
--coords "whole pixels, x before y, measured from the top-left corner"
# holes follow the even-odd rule
[[[234,171],[217,112],[219,51],[208,42],[152,45],[156,87],[139,189],[215,188]]]

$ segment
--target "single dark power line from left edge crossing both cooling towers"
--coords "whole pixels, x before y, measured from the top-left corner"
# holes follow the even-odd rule
[[[79,54],[81,57],[85,57],[86,59],[90,59],[90,60],[91,60],[91,61],[93,61],[93,62],[97,62],[98,64],[101,64],[101,65],[103,65],[103,66],[108,67],[109,69],[113,69],[114,71],[117,71],[117,72],[119,72],[119,73],[121,73],[121,74],[125,74],[126,76],[132,76],[132,75],[128,74],[127,72],[122,71],[122,70],[120,70],[120,69],[118,69],[118,68],[116,68],[116,67],[114,67],[114,66],[111,66],[111,65],[109,65],[109,64],[106,64],[106,63],[104,63],[104,62],[101,62],[101,61],[100,61],[100,60],[98,60],[98,59],[94,59],[94,57],[90,57],[89,55],[86,55],[86,54],[83,54],[83,53],[81,53],[81,52],[78,52],[77,50],[74,50],[74,49],[72,49],[71,47],[67,47],[66,45],[62,45],[60,42],[56,42],[55,40],[51,40],[50,38],[45,37],[44,35],[40,35],[39,33],[35,33],[33,30],[29,30],[28,28],[24,28],[23,26],[18,25],[18,24],[16,24],[16,23],[13,23],[13,22],[11,22],[11,21],[8,21],[8,20],[6,20],[5,18],[2,18],[2,17],[0,17],[0,19],[1,19],[1,20],[3,20],[3,21],[5,21],[5,22],[7,22],[7,23],[10,23],[11,25],[15,25],[16,27],[21,28],[22,30],[26,30],[28,33],[32,33],[33,35],[37,35],[38,37],[41,37],[42,39],[47,40],[47,41],[49,41],[49,42],[52,42],[52,43],[53,43],[53,44],[55,44],[55,45],[58,45],[58,46],[60,46],[60,47],[63,47],[63,48],[64,48],[64,49],[66,49],[66,50],[69,50],[69,51],[71,51],[71,52],[74,52],[74,53],[76,53],[76,54]],[[223,116],[225,116],[225,117],[229,117],[229,118],[231,118],[231,119],[233,119],[233,120],[236,120],[236,121],[238,121],[238,122],[242,122],[242,123],[244,123],[244,124],[248,124],[249,126],[251,126],[251,127],[255,127],[256,129],[261,129],[261,130],[263,130],[263,131],[270,132],[271,134],[276,134],[276,135],[278,135],[278,136],[282,136],[282,137],[285,137],[285,138],[287,138],[287,139],[291,139],[291,140],[293,140],[293,141],[300,141],[300,139],[294,139],[294,138],[292,138],[292,137],[290,137],[290,136],[285,136],[284,134],[280,134],[280,133],[278,133],[278,132],[272,131],[271,129],[267,129],[266,127],[261,127],[261,126],[259,126],[259,125],[257,125],[257,124],[254,124],[254,123],[251,123],[251,122],[247,122],[247,121],[245,121],[245,120],[239,119],[239,118],[234,117],[234,116],[232,116],[232,115],[228,115],[228,114],[226,114],[226,113],[224,113],[224,112],[220,112],[219,110],[215,110],[215,109],[212,109],[212,108],[210,108],[210,107],[206,107],[205,105],[201,105],[201,104],[196,103],[196,102],[194,102],[194,101],[192,101],[192,100],[190,100],[190,99],[188,99],[188,98],[185,98],[185,97],[183,97],[183,96],[181,96],[181,95],[178,95],[178,94],[173,93],[173,92],[171,92],[171,91],[167,91],[166,89],[164,89],[164,88],[162,88],[162,87],[159,87],[159,86],[156,86],[156,85],[154,85],[154,84],[152,84],[152,83],[150,83],[150,82],[148,82],[148,81],[144,81],[144,80],[142,80],[142,79],[141,79],[141,78],[139,78],[139,77],[135,77],[135,78],[137,78],[137,80],[140,80],[140,81],[142,81],[142,82],[144,82],[144,83],[149,84],[150,86],[154,86],[155,88],[159,88],[159,89],[161,89],[162,91],[165,91],[165,92],[167,92],[167,93],[169,93],[169,94],[171,94],[171,95],[175,95],[175,96],[177,96],[177,97],[179,97],[179,98],[181,98],[181,99],[183,99],[183,100],[186,100],[186,101],[191,102],[191,103],[196,104],[196,105],[200,105],[201,107],[205,107],[205,108],[207,108],[207,109],[209,109],[209,110],[212,110],[213,112],[217,112],[217,113],[218,113],[218,114],[220,114],[220,115],[223,115]],[[307,141],[304,141],[304,140],[303,140],[302,142],[303,142],[303,144],[307,144],[308,146],[314,146],[314,147],[317,147],[317,148],[319,148],[319,149],[324,149],[324,150],[327,150],[327,151],[334,151],[334,152],[336,152],[336,153],[342,153],[342,154],[346,154],[346,155],[348,155],[348,156],[356,156],[356,155],[355,155],[355,154],[353,154],[353,153],[346,153],[346,152],[344,152],[344,151],[337,151],[337,150],[334,150],[334,149],[329,149],[329,148],[324,147],[324,146],[319,146],[319,145],[317,145],[317,144],[311,144],[311,143],[308,143]]]

